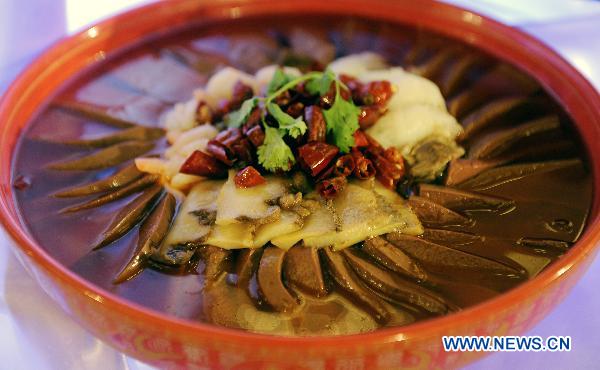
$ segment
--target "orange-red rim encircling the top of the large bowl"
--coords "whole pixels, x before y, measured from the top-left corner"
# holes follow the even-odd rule
[[[376,2],[379,5],[392,6],[391,3],[393,2],[393,0],[370,1],[371,4],[373,2]],[[410,1],[407,1],[407,3],[408,2]],[[265,6],[273,5],[273,2],[265,0],[219,0],[215,1],[214,4],[210,4],[209,1],[197,2],[193,0],[178,0],[175,2],[169,1],[168,3],[169,6],[174,6],[176,8],[179,7],[181,9],[190,9],[189,7],[192,3],[196,4],[196,6],[198,7],[221,7],[221,10],[228,11],[230,13],[229,20],[233,20],[238,17],[243,18],[246,16],[252,16],[253,14],[264,15],[266,11]],[[319,1],[305,0],[301,3],[302,4],[295,5],[287,4],[287,6],[294,9],[306,10],[310,9],[309,6],[311,5],[317,5]],[[364,1],[332,0],[328,3],[329,7],[327,9],[341,10],[344,7],[351,8],[349,5],[354,5],[356,7],[361,3],[364,3]],[[573,117],[573,120],[576,121],[576,125],[578,126],[580,132],[582,132],[582,127],[580,127],[580,125],[583,124],[582,122],[584,122],[586,125],[585,127],[587,127],[586,132],[588,132],[589,135],[600,137],[600,95],[598,94],[598,91],[577,70],[575,70],[575,68],[569,62],[567,62],[565,59],[559,56],[550,47],[546,46],[538,39],[527,35],[521,30],[501,24],[500,22],[494,21],[488,17],[485,17],[483,15],[477,14],[469,10],[465,10],[454,5],[439,3],[433,0],[423,0],[416,3],[418,3],[418,6],[429,7],[429,11],[435,13],[438,17],[445,17],[446,19],[451,20],[455,23],[465,22],[465,24],[468,26],[465,26],[465,28],[470,27],[469,30],[471,30],[472,27],[475,27],[478,30],[478,32],[481,33],[480,35],[485,35],[485,37],[487,38],[497,38],[498,42],[500,42],[500,39],[503,39],[503,42],[505,44],[507,40],[511,40],[515,44],[520,45],[516,48],[528,49],[528,56],[534,61],[543,61],[544,64],[547,63],[549,65],[548,69],[533,70],[534,66],[532,63],[525,63],[524,59],[516,60],[516,58],[524,58],[524,55],[521,55],[522,52],[515,52],[516,49],[498,51],[493,50],[494,45],[485,46],[480,43],[478,44],[477,34],[469,33],[465,29],[453,31],[435,29],[434,27],[430,28],[430,30],[433,30],[435,32],[443,33],[444,36],[472,44],[474,47],[479,49],[484,49],[486,52],[498,57],[499,59],[510,59],[509,62],[511,62],[512,64],[516,64],[518,67],[524,69],[530,75],[535,77],[542,84],[542,86],[545,87],[548,93],[553,95],[553,97],[557,99],[557,101],[559,101],[561,105],[567,109],[568,113],[570,113],[570,115]],[[90,38],[90,30],[92,29],[102,32],[102,30],[110,29],[111,25],[118,22],[128,22],[135,18],[147,18],[149,15],[152,14],[160,14],[161,10],[164,10],[165,5],[166,4],[164,2],[150,3],[148,5],[139,8],[134,8],[121,14],[117,14],[101,22],[86,27],[84,30],[81,30],[75,34],[72,34],[57,41],[53,46],[51,46],[45,52],[43,52],[23,72],[21,72],[21,74],[9,86],[5,95],[0,100],[0,122],[3,122],[2,136],[0,137],[0,142],[4,142],[5,140],[7,140],[6,137],[8,136],[8,134],[6,134],[6,124],[4,122],[9,121],[9,119],[11,118],[11,105],[13,105],[14,102],[18,101],[19,94],[20,92],[26,89],[27,82],[29,82],[32,78],[35,78],[31,75],[30,71],[40,70],[44,66],[47,66],[47,64],[49,63],[46,60],[48,55],[52,54],[53,52],[56,52],[57,50],[65,50],[65,48],[73,46],[77,42],[85,42],[86,40],[89,41],[90,39],[93,39],[93,37]],[[403,4],[402,6],[411,7],[411,5],[406,4]],[[375,8],[375,6],[373,6],[372,8]],[[233,9],[237,10],[233,12]],[[315,9],[317,9],[317,11],[314,11],[314,13],[320,14],[319,10],[322,11],[323,14],[327,13],[327,10],[324,11],[324,8],[322,7],[317,6]],[[381,14],[377,13],[373,9],[363,10],[363,14],[371,16],[375,14],[375,17],[380,18],[380,20],[382,18]],[[344,13],[352,14],[353,12],[346,11]],[[172,16],[173,13],[170,14]],[[394,22],[393,19],[386,20]],[[396,22],[398,22],[398,19],[396,19]],[[414,24],[412,24],[411,26],[419,25],[421,25],[419,21],[415,21]],[[119,45],[119,48],[122,48],[124,46],[127,45]],[[502,52],[504,54],[498,55]],[[552,73],[555,71],[560,72],[559,75],[552,75]],[[576,94],[572,94],[573,96],[571,96],[564,91],[557,91],[558,88],[564,88],[565,86],[572,86]],[[584,113],[581,113],[579,111],[571,111],[570,108],[575,106],[575,104],[573,103],[573,99],[580,97],[584,97],[586,103],[589,106],[589,109]],[[46,97],[45,99],[47,100],[47,98],[48,97]],[[29,117],[27,121],[30,122],[31,118],[32,117]],[[13,167],[11,163],[13,155],[17,148],[16,141],[20,133],[20,130],[18,130],[18,133],[17,130],[15,130],[15,134],[13,135],[15,140],[14,145],[10,148],[10,150],[3,148],[2,151],[2,155],[8,155],[10,157],[8,158],[8,160],[4,158],[2,165],[0,165],[0,167],[2,167],[3,169],[8,170],[9,179],[12,177]],[[588,141],[591,140],[586,138],[585,135],[582,136],[586,143],[588,143]],[[590,146],[587,146],[589,158],[594,157],[593,151],[590,150]],[[598,170],[598,168],[600,167],[600,155],[596,157],[597,160],[594,162],[597,162],[597,164],[595,164],[595,167],[592,171],[594,189],[600,186],[600,174]],[[9,164],[6,165],[6,163]],[[352,346],[357,343],[367,345],[418,339],[434,335],[443,330],[451,332],[451,329],[453,327],[467,324],[468,322],[473,321],[475,317],[486,317],[491,312],[502,311],[510,307],[511,305],[514,305],[515,302],[526,300],[529,297],[530,292],[541,290],[544,287],[550,285],[551,283],[559,279],[562,275],[568,273],[573,268],[573,266],[581,263],[586,258],[591,257],[596,252],[595,249],[597,249],[599,245],[598,241],[600,241],[600,215],[598,212],[600,204],[597,193],[598,192],[594,190],[592,208],[590,210],[590,218],[588,219],[586,230],[581,235],[580,239],[568,253],[566,253],[561,259],[544,269],[544,271],[542,271],[535,278],[524,282],[519,286],[509,290],[508,292],[500,294],[497,297],[494,297],[492,299],[489,299],[480,304],[469,307],[465,310],[451,315],[432,318],[422,322],[409,324],[406,326],[381,328],[369,333],[339,336],[276,336],[272,334],[260,334],[238,329],[230,329],[203,322],[193,322],[190,320],[180,319],[165,313],[161,313],[150,308],[146,308],[144,306],[139,305],[138,303],[129,301],[125,298],[117,296],[116,294],[105,291],[104,289],[94,285],[91,282],[88,282],[83,277],[80,277],[79,275],[70,271],[67,267],[62,266],[61,263],[54,260],[50,256],[50,254],[41,247],[41,243],[38,244],[38,242],[36,242],[33,239],[33,237],[30,237],[28,235],[26,227],[21,224],[20,217],[16,213],[16,208],[13,208],[16,207],[16,200],[13,196],[13,190],[10,181],[8,183],[2,181],[0,188],[0,222],[4,226],[4,229],[10,235],[10,237],[13,239],[16,246],[22,252],[27,254],[32,260],[34,260],[36,264],[40,265],[48,274],[53,275],[54,278],[58,278],[63,283],[70,285],[70,287],[78,291],[79,294],[86,294],[88,297],[95,299],[99,303],[107,305],[107,307],[110,307],[111,310],[118,311],[127,317],[138,317],[139,319],[144,320],[145,323],[152,323],[155,328],[169,328],[169,330],[171,330],[174,333],[177,333],[178,335],[216,335],[220,341],[241,341],[249,345],[258,346],[276,345],[280,348],[297,348],[297,346],[300,344],[305,347],[344,347]],[[13,213],[13,211],[15,213]]]

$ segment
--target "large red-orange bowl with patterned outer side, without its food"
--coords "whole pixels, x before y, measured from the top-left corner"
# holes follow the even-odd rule
[[[571,115],[587,146],[595,194],[585,233],[561,259],[535,279],[457,314],[373,333],[288,338],[179,320],[126,301],[56,262],[19,220],[11,160],[23,127],[63,81],[103,55],[149,35],[192,22],[302,11],[360,15],[422,27],[469,43],[534,76]],[[66,38],[38,58],[0,103],[0,219],[14,250],[40,285],[94,335],[120,351],[159,367],[189,368],[448,368],[480,354],[444,352],[443,335],[521,334],[540,321],[577,282],[600,240],[600,97],[547,46],[519,30],[432,1],[238,0],[160,2],[106,20]]]

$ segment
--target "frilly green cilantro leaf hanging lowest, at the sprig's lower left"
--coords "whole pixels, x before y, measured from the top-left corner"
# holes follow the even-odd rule
[[[258,147],[257,153],[258,163],[271,172],[289,171],[296,163],[292,150],[283,141],[283,133],[274,127],[265,126],[265,141]]]

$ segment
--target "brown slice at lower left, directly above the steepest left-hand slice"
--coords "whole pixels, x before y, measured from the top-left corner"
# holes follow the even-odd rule
[[[113,218],[105,232],[102,233],[94,250],[100,249],[121,238],[143,220],[154,207],[154,200],[163,192],[160,185],[153,185],[137,198],[127,204]]]

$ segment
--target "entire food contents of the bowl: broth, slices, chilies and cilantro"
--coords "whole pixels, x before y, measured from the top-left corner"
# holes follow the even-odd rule
[[[13,186],[54,258],[176,317],[340,335],[493,298],[577,240],[586,158],[535,80],[398,25],[260,24],[145,41],[41,110]]]

